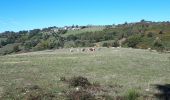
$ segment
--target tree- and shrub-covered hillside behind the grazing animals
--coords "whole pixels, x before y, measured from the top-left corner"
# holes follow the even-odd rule
[[[142,20],[120,25],[67,26],[19,32],[6,31],[0,34],[0,54],[92,46],[122,46],[165,51],[170,49],[169,27],[170,22]],[[4,49],[8,47],[10,47],[9,50]]]

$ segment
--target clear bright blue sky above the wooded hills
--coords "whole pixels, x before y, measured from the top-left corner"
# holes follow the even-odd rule
[[[170,20],[170,0],[0,0],[0,32]]]

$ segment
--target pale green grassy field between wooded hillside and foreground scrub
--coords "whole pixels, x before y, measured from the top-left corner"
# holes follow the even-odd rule
[[[154,93],[157,91],[151,85],[170,83],[170,54],[102,48],[96,52],[60,49],[0,56],[0,96],[6,89],[26,85],[60,93],[67,88],[60,77],[72,76],[83,76],[103,86],[120,85],[116,95],[130,89]],[[145,91],[148,88],[149,93]]]

